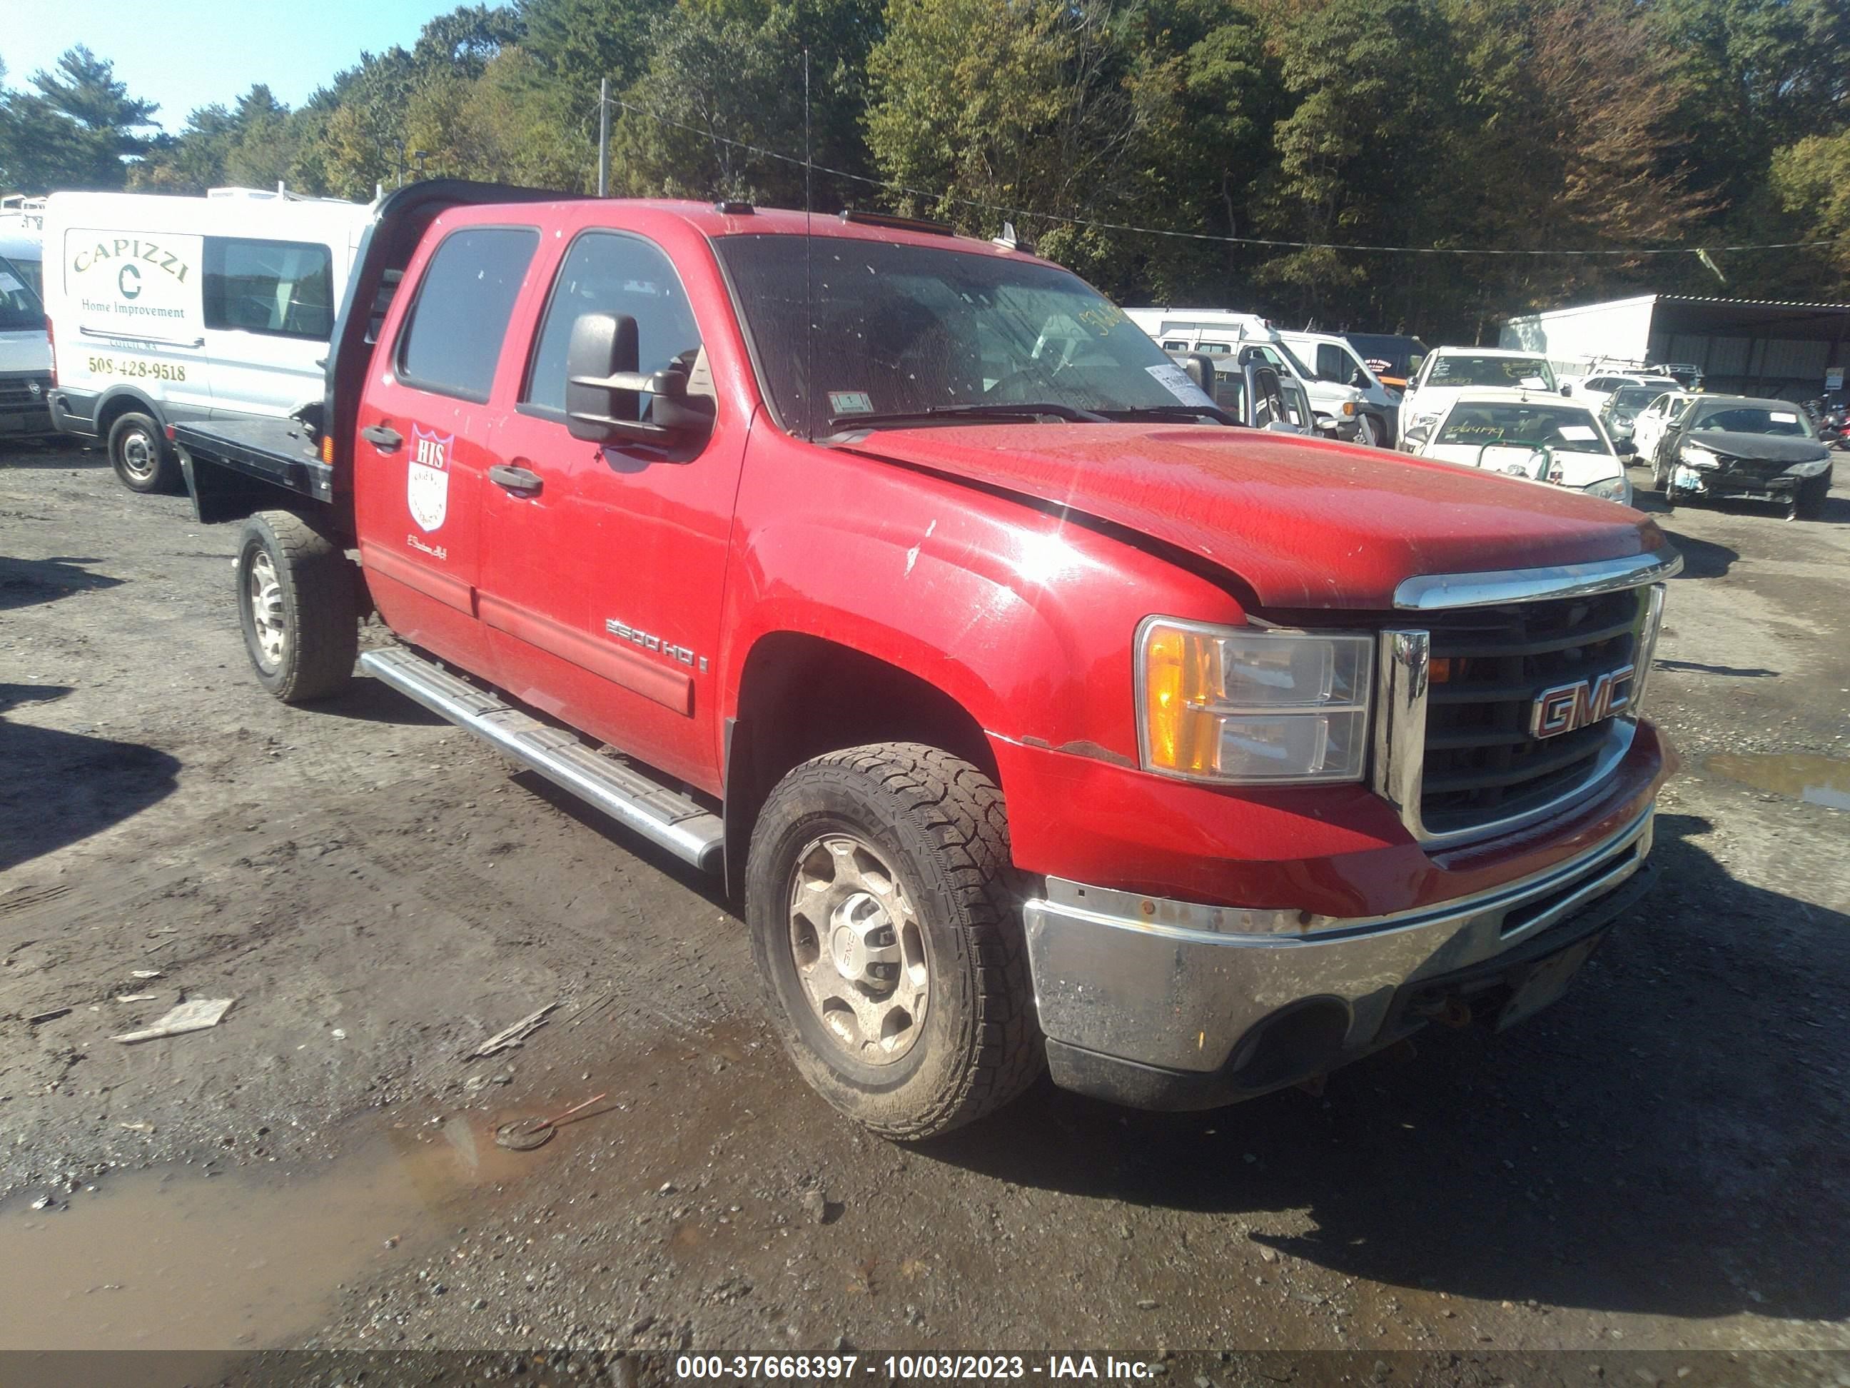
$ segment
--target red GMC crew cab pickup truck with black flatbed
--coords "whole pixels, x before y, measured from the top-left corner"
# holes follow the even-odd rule
[[[1648,518],[1240,428],[1010,244],[418,183],[316,416],[174,442],[272,694],[377,611],[363,670],[725,872],[890,1136],[1508,1023],[1650,881]]]

